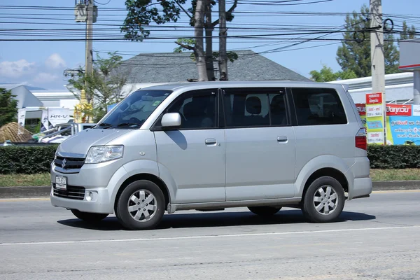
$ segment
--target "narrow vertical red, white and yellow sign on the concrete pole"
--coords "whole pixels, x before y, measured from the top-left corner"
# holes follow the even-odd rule
[[[367,144],[384,144],[384,107],[382,93],[366,94]]]

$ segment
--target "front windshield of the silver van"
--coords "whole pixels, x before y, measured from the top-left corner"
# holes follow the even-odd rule
[[[171,93],[171,90],[137,90],[125,97],[109,116],[92,128],[137,129]]]

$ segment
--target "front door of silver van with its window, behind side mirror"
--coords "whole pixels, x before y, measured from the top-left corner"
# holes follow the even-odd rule
[[[172,203],[225,201],[225,132],[218,128],[217,90],[186,92],[165,113],[180,113],[177,130],[155,131],[160,172],[172,176]]]

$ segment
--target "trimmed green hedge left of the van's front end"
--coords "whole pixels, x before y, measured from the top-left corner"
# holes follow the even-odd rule
[[[1,146],[0,174],[35,174],[50,172],[56,145]]]

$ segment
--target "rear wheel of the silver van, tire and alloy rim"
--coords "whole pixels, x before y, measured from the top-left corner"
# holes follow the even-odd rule
[[[344,190],[339,181],[323,176],[309,185],[304,194],[302,212],[312,223],[329,223],[342,213],[344,201]]]

